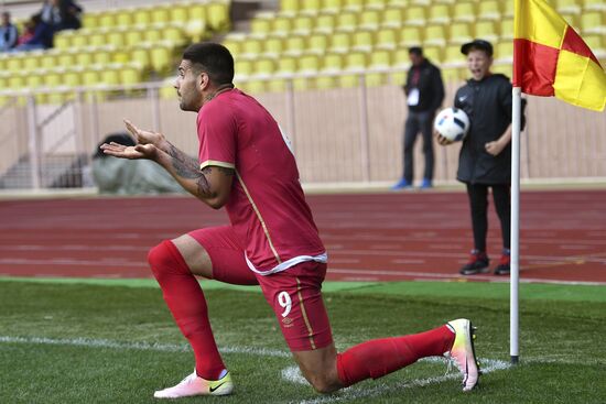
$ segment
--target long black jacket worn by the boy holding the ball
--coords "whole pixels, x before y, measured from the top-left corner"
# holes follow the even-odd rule
[[[511,83],[501,74],[480,81],[469,79],[455,95],[455,108],[469,117],[470,127],[458,157],[457,179],[472,184],[511,184],[511,143],[493,156],[485,145],[501,137],[511,123]],[[522,100],[522,122],[523,128]]]

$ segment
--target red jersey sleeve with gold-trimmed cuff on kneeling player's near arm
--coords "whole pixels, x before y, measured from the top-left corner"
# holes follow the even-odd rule
[[[216,165],[236,168],[236,122],[231,114],[214,108],[197,119],[199,168]]]

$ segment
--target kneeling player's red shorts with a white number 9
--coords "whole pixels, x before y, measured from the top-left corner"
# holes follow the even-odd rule
[[[326,264],[307,261],[262,276],[248,267],[245,249],[231,227],[198,229],[188,234],[210,256],[214,280],[261,286],[291,351],[320,349],[333,342],[328,315],[322,299]]]

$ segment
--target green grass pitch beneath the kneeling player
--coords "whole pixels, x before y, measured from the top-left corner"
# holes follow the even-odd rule
[[[606,287],[520,285],[520,364],[509,365],[509,285],[326,283],[339,350],[469,317],[486,373],[472,393],[423,360],[332,395],[301,382],[256,288],[203,282],[235,394],[184,403],[606,403]],[[249,292],[247,292],[249,291]],[[0,279],[0,403],[158,403],[193,354],[151,280]]]

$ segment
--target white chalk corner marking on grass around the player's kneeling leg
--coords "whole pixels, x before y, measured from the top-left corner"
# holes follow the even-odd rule
[[[425,359],[422,359],[421,361],[443,362],[444,360],[442,358],[425,358]],[[483,367],[481,367],[483,374],[487,374],[497,370],[508,369],[510,367],[509,363],[500,360],[495,360],[495,359],[480,359],[480,363],[483,363]],[[303,376],[301,375],[301,372],[299,372],[299,369],[296,367],[290,367],[282,370],[282,379],[285,379],[292,383],[307,384],[307,382],[305,381],[305,379],[303,379]],[[411,381],[397,383],[394,385],[379,384],[375,387],[364,389],[364,390],[351,386],[351,387],[342,390],[342,393],[340,394],[337,393],[337,395],[322,396],[322,397],[312,398],[312,400],[303,400],[296,403],[322,404],[322,403],[336,403],[340,401],[356,400],[356,398],[362,398],[362,397],[372,397],[372,396],[377,396],[377,395],[393,392],[393,391],[422,387],[429,384],[437,384],[448,380],[456,380],[456,379],[461,379],[461,374],[448,373],[448,374],[444,374],[442,376],[435,376],[435,378],[414,379]]]

